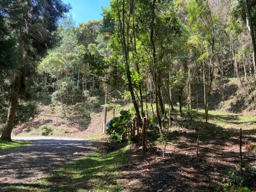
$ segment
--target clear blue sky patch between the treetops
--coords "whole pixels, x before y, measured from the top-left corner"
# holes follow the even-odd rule
[[[109,7],[109,0],[62,0],[64,3],[70,3],[72,9],[70,13],[76,21],[86,22],[93,19],[102,19],[102,7]]]

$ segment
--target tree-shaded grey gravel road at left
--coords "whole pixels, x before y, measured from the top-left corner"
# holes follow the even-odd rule
[[[0,191],[1,183],[30,183],[44,178],[55,169],[90,154],[97,141],[70,138],[13,138],[33,141],[22,148],[0,150]]]

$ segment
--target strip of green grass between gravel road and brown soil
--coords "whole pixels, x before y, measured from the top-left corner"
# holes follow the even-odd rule
[[[33,184],[16,185],[9,191],[121,191],[122,174],[129,146],[108,154],[93,154],[55,170],[50,177]]]

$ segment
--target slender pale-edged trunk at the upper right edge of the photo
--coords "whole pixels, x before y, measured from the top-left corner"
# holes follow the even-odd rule
[[[256,43],[255,43],[255,35],[253,30],[253,21],[251,19],[251,6],[249,5],[249,0],[245,1],[245,14],[246,14],[246,23],[251,35],[252,48],[253,48],[253,67],[254,67],[254,75],[256,77]]]

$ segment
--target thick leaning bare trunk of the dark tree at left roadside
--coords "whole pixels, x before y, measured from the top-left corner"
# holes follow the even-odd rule
[[[1,135],[1,139],[5,141],[12,141],[11,133],[13,129],[13,123],[15,119],[15,113],[18,105],[19,98],[19,90],[20,90],[20,74],[15,75],[13,81],[13,92],[10,99],[10,105],[8,110],[8,115],[6,119],[6,123],[4,125],[4,129]]]

